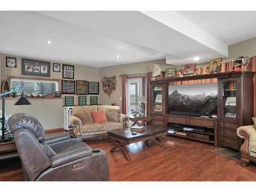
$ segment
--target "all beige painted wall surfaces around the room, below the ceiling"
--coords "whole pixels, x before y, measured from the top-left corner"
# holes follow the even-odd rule
[[[256,55],[256,37],[239,42],[228,47],[229,48],[229,57],[224,58],[223,62],[230,61],[234,58],[237,58],[240,55],[253,56]],[[13,56],[17,58],[17,68],[7,68],[6,67],[6,56]],[[25,58],[25,57],[24,57]],[[35,60],[42,60],[36,59]],[[212,59],[212,58],[209,58]],[[45,60],[48,61],[48,60]],[[22,57],[15,55],[5,55],[0,53],[0,79],[3,82],[8,75],[21,76],[21,62]],[[52,71],[52,63],[63,63],[58,61],[51,62],[51,78],[62,78],[62,73],[57,73]],[[120,97],[122,96],[122,81],[119,75],[121,74],[138,74],[138,73],[147,73],[152,71],[154,63],[158,63],[162,71],[165,71],[167,68],[173,68],[172,65],[166,65],[165,59],[145,61],[138,63],[130,63],[125,65],[110,66],[110,67],[89,67],[83,65],[74,65],[75,66],[75,79],[78,80],[90,80],[90,81],[99,81],[100,82],[100,94],[99,94],[99,103],[100,104],[111,104],[116,102],[121,106]],[[69,64],[69,63],[65,63]],[[72,65],[72,64],[70,64]],[[208,65],[208,63],[199,63],[197,66]],[[177,66],[177,69],[183,68],[183,66]],[[61,66],[62,70],[62,66]],[[61,71],[62,72],[62,71]],[[101,79],[103,76],[111,77],[116,75],[116,91],[111,94],[111,97],[103,93],[101,86]],[[29,77],[29,76],[28,76]],[[78,103],[78,96],[75,97],[75,104]],[[65,95],[63,95],[65,97]],[[31,99],[32,105],[28,106],[13,106],[14,100],[10,99],[6,101],[6,112],[9,114],[14,114],[17,112],[25,112],[34,114],[40,122],[44,125],[46,129],[57,128],[63,126],[63,115],[62,115],[62,104],[64,101],[61,99]],[[90,103],[90,95],[88,96],[87,103]],[[43,106],[43,107],[42,107]]]

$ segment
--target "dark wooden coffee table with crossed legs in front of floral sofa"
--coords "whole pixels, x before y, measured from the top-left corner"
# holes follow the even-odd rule
[[[160,137],[167,135],[167,130],[161,126],[151,126],[144,125],[145,130],[142,132],[137,132],[137,135],[132,135],[132,133],[124,133],[124,130],[115,130],[108,132],[109,138],[115,141],[115,146],[110,150],[110,152],[114,152],[118,147],[123,152],[127,161],[131,161],[132,158],[129,153],[126,151],[124,145],[129,145],[132,143],[136,143],[139,141],[144,141],[147,143],[151,139],[156,139],[159,145],[165,149],[166,146],[161,141]]]

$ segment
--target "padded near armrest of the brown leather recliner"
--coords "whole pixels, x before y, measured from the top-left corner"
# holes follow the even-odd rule
[[[50,158],[51,167],[63,165],[71,161],[75,161],[77,159],[81,159],[83,157],[87,157],[91,155],[92,155],[92,150],[88,147],[76,148],[75,150],[51,157]]]

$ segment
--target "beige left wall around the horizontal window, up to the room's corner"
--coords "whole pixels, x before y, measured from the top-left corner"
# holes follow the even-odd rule
[[[6,56],[12,56],[17,58],[17,68],[8,68],[6,67]],[[34,77],[22,75],[22,58],[27,57],[19,57],[15,55],[1,55],[1,68],[0,68],[0,78],[1,82],[7,78],[7,76],[25,76],[25,77]],[[36,58],[28,58],[34,60],[42,60]],[[51,72],[50,78],[61,79],[62,78],[62,63],[59,61],[49,61],[51,62]],[[53,72],[52,63],[57,62],[61,63],[61,72]],[[65,63],[69,65],[73,65],[72,63]],[[74,65],[75,66],[75,80],[89,80],[89,81],[99,81],[99,68],[83,66],[83,65]],[[46,79],[48,77],[45,77]],[[59,91],[60,88],[59,88]],[[15,113],[28,113],[34,115],[44,126],[45,129],[55,129],[63,127],[63,108],[62,105],[65,103],[65,96],[74,96],[74,104],[78,104],[78,96],[77,95],[62,95],[63,99],[29,99],[32,105],[22,105],[22,106],[14,106],[14,102],[17,99],[6,99],[6,113],[7,114],[15,114]],[[99,101],[100,102],[100,101]],[[87,104],[90,104],[90,95],[87,95]]]

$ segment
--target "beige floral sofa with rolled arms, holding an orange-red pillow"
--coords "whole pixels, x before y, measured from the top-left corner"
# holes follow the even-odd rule
[[[108,111],[109,109],[119,110],[119,106],[112,105],[90,105],[90,106],[75,106],[72,109],[72,115],[69,117],[69,122],[73,126],[75,136],[82,136],[82,138],[95,137],[97,135],[106,134],[108,131],[124,129],[125,124],[129,121],[129,116],[120,114],[118,122],[103,122],[103,123],[87,123],[76,117],[81,114],[91,114],[92,111]]]

